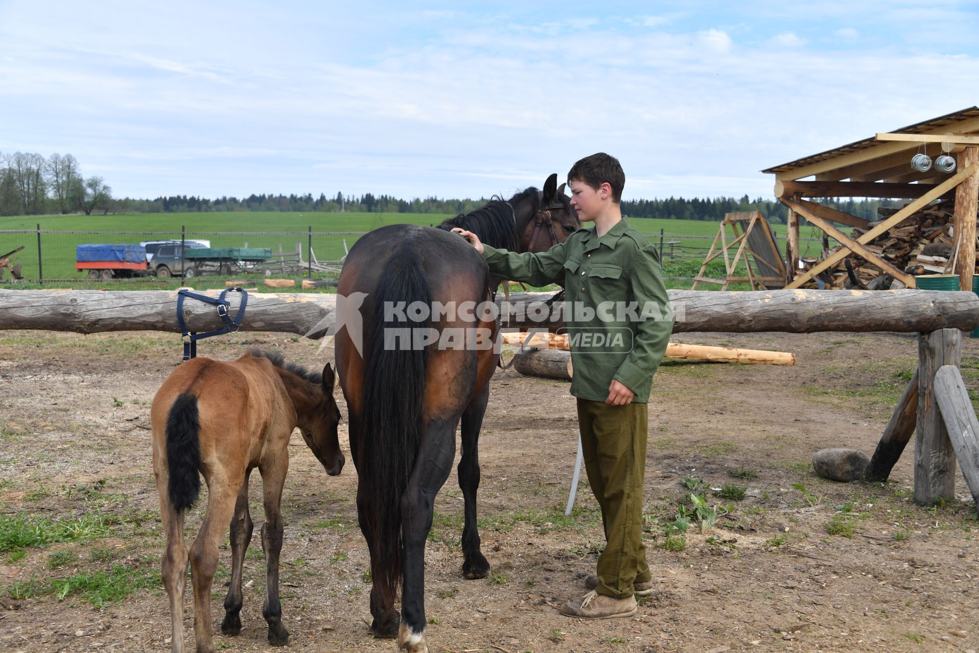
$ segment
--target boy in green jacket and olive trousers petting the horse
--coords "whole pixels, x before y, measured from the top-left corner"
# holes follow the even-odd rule
[[[568,172],[571,204],[594,227],[544,253],[496,250],[457,229],[504,279],[565,282],[571,394],[578,399],[585,470],[607,542],[597,575],[585,579],[591,591],[561,606],[563,614],[583,619],[628,617],[636,611],[634,595],[653,591],[642,543],[646,404],[673,313],[656,249],[620,211],[625,184],[622,166],[607,154],[575,163]]]

